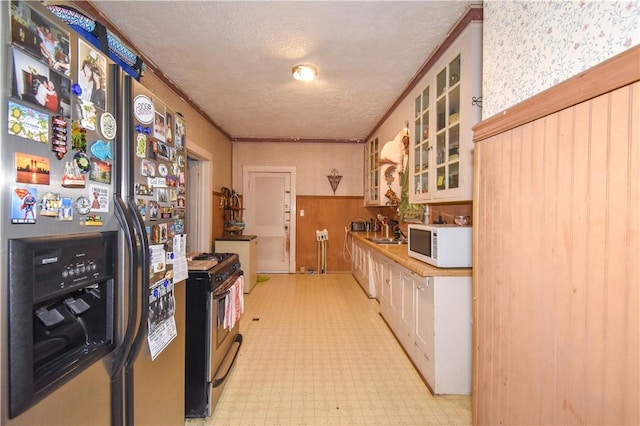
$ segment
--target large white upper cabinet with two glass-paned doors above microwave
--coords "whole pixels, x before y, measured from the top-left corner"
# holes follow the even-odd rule
[[[413,92],[411,203],[473,197],[473,132],[482,108],[482,22],[472,21]]]

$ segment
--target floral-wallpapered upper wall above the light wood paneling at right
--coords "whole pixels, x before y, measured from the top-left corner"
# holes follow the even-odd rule
[[[640,1],[485,0],[488,118],[640,43]]]

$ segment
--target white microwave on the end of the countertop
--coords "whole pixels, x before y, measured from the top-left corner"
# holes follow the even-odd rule
[[[438,268],[469,268],[471,230],[470,226],[409,225],[409,256]]]

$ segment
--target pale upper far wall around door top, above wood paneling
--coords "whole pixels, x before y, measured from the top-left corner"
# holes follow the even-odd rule
[[[296,167],[297,195],[333,195],[327,179],[338,169],[342,180],[336,196],[362,196],[364,144],[270,143],[233,144],[233,189],[242,191],[242,166]]]

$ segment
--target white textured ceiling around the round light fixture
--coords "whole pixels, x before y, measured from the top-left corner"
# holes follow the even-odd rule
[[[233,139],[277,140],[365,138],[470,4],[91,3]]]

